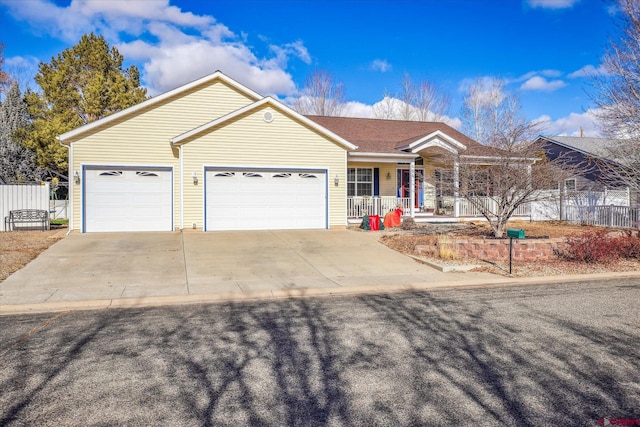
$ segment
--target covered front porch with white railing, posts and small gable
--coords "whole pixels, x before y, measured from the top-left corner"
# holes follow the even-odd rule
[[[440,132],[399,147],[401,153],[349,153],[347,165],[347,218],[358,223],[364,215],[384,217],[401,209],[416,222],[482,220],[481,209],[496,212],[498,202],[475,194],[473,203],[461,194],[456,154],[465,149]],[[491,159],[486,159],[491,164]],[[482,162],[478,163],[482,167]],[[465,187],[466,188],[466,187]],[[530,217],[529,204],[513,216]]]

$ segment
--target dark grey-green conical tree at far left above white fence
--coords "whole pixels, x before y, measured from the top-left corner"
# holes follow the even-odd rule
[[[0,106],[0,179],[5,183],[39,181],[42,170],[21,137],[29,126],[27,104],[14,82]]]

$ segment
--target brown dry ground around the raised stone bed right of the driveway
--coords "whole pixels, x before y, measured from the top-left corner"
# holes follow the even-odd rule
[[[551,237],[563,238],[569,235],[582,234],[587,231],[595,231],[600,227],[581,226],[567,224],[559,221],[512,221],[508,224],[509,228],[521,228],[525,230],[525,235],[530,237]],[[486,223],[467,223],[458,225],[424,225],[409,231],[399,231],[394,234],[384,235],[381,239],[382,243],[398,252],[418,255],[415,251],[416,246],[435,246],[439,236],[447,233],[448,238],[455,237],[490,237],[491,230]],[[439,249],[438,249],[439,252]],[[437,253],[437,252],[436,252]],[[424,256],[424,255],[421,255]],[[432,259],[436,263],[444,264],[482,264],[483,267],[477,271],[487,271],[496,274],[508,275],[509,261],[504,260],[493,264],[483,262],[481,260],[454,260],[447,256],[443,259]],[[618,260],[607,263],[585,264],[580,262],[571,262],[565,260],[549,260],[532,262],[514,262],[513,276],[547,276],[558,274],[588,274],[588,273],[605,273],[613,271],[638,271],[640,270],[640,262],[636,260]]]

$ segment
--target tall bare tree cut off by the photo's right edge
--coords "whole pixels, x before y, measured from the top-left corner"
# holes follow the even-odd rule
[[[618,0],[620,33],[611,40],[600,72],[593,76],[592,99],[603,135],[612,139],[603,163],[614,184],[640,191],[640,3]]]

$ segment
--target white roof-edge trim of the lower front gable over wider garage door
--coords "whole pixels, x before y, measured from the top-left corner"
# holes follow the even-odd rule
[[[239,110],[236,110],[232,113],[229,113],[225,116],[222,116],[220,118],[217,118],[215,120],[210,121],[209,123],[205,123],[202,126],[198,126],[195,129],[191,129],[188,132],[185,132],[181,135],[175,136],[173,138],[170,139],[171,144],[174,146],[177,146],[179,144],[184,144],[184,140],[191,138],[192,136],[195,136],[201,132],[204,132],[208,129],[211,129],[214,126],[218,126],[226,121],[232,120],[242,114],[245,114],[251,110],[255,110],[257,108],[262,107],[263,105],[269,105],[273,108],[275,108],[276,110],[279,110],[280,112],[292,116],[294,119],[301,121],[302,123],[304,123],[305,125],[313,128],[314,130],[320,132],[322,135],[333,139],[334,141],[336,141],[338,144],[340,144],[344,149],[346,150],[356,150],[358,147],[356,145],[353,145],[352,143],[350,143],[349,141],[347,141],[346,139],[342,138],[341,136],[331,132],[330,130],[328,130],[327,128],[320,126],[318,123],[314,122],[313,120],[310,120],[308,118],[306,118],[305,116],[299,114],[298,112],[296,112],[295,110],[287,107],[286,105],[282,104],[281,102],[275,100],[274,98],[267,96],[264,97],[262,99],[260,99],[259,101],[256,101],[252,104],[247,105],[246,107],[242,107]]]

